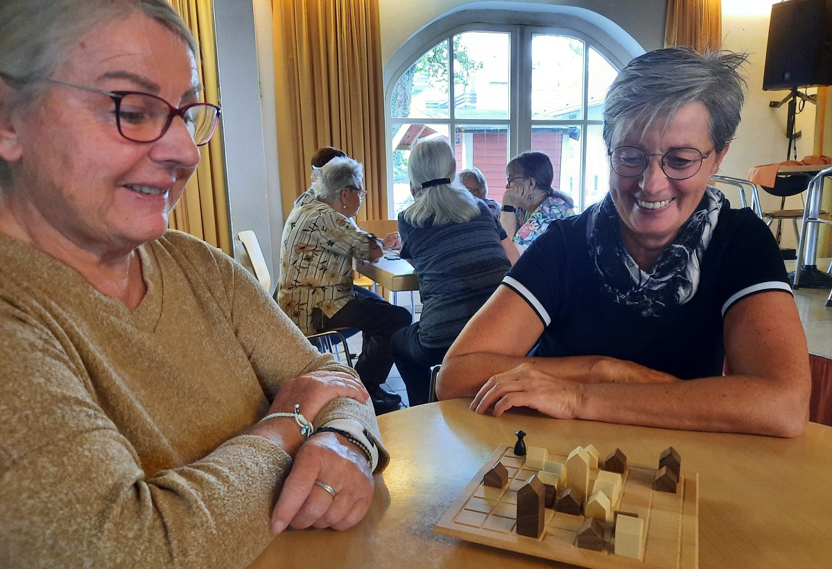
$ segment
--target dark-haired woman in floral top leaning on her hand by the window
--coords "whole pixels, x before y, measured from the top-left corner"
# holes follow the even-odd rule
[[[514,265],[553,220],[575,215],[572,198],[552,188],[552,161],[543,152],[523,152],[506,166],[506,193],[500,223],[511,240],[506,247]]]

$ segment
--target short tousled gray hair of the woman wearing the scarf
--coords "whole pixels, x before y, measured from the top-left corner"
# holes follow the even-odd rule
[[[681,106],[701,102],[711,115],[711,142],[721,152],[740,126],[745,98],[741,67],[745,53],[706,52],[690,47],[666,47],[646,52],[618,73],[604,103],[604,142],[607,151],[626,128],[644,129],[659,116],[671,117]]]

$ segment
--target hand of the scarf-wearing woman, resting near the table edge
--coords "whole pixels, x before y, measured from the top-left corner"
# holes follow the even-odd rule
[[[473,398],[471,409],[486,413],[494,407],[499,417],[513,407],[528,407],[554,418],[576,418],[583,385],[557,379],[521,364],[504,374],[493,375]]]

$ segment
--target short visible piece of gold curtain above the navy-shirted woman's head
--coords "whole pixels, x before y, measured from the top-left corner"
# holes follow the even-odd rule
[[[722,46],[721,0],[668,0],[665,47],[688,46],[697,52]]]

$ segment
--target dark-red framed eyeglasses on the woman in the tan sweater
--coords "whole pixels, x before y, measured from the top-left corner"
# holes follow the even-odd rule
[[[156,142],[165,136],[175,116],[185,122],[196,146],[208,144],[214,136],[222,110],[219,106],[195,102],[176,107],[161,96],[137,91],[104,91],[79,83],[50,79],[49,82],[109,96],[116,105],[119,134],[132,142]]]

